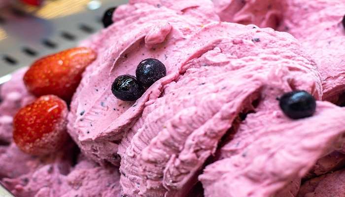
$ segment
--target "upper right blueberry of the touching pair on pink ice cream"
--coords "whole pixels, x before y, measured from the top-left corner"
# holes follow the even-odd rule
[[[138,82],[148,88],[167,75],[167,68],[159,60],[146,59],[139,63],[136,75]]]

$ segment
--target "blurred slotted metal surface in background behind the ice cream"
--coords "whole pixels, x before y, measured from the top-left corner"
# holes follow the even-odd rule
[[[109,7],[128,0],[0,0],[0,84],[38,57],[75,46],[104,28]]]

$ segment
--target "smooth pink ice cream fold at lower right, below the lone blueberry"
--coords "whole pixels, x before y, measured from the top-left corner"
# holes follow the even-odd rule
[[[293,121],[276,105],[272,109],[260,105],[222,148],[225,159],[207,166],[200,176],[206,196],[272,196],[277,188],[302,178],[343,140],[340,114],[345,111],[340,107],[318,102],[313,117]]]

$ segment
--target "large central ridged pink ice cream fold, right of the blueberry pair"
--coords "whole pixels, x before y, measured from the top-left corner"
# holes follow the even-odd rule
[[[176,82],[164,87],[159,99],[147,104],[120,144],[120,170],[125,174],[121,181],[128,196],[183,196],[233,120],[251,110],[262,91],[271,93],[261,94],[265,107],[277,106],[276,97],[291,87],[320,97],[314,64],[286,33],[215,23],[187,45],[203,49],[182,67],[188,69]]]

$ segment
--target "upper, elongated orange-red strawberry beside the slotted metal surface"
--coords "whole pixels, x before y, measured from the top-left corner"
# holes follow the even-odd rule
[[[69,101],[78,87],[81,74],[96,59],[86,47],[68,49],[36,61],[24,75],[24,83],[36,97],[56,95]]]

